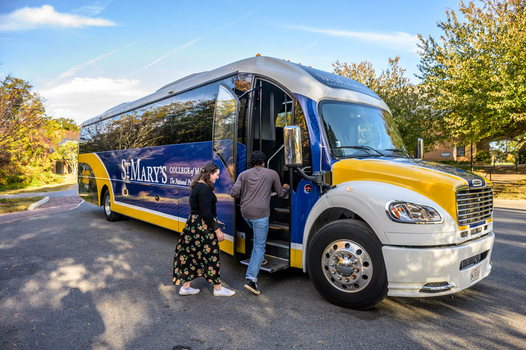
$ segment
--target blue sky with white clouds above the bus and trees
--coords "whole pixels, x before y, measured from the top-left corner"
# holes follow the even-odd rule
[[[0,73],[31,81],[48,114],[77,123],[191,73],[256,54],[321,70],[400,56],[458,1],[12,1],[0,3]]]

